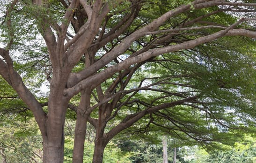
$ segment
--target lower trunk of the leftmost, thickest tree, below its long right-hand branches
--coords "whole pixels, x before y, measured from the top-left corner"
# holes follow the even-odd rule
[[[48,117],[42,135],[43,163],[63,163],[64,160],[64,124],[68,101],[59,99],[58,96],[49,98]]]

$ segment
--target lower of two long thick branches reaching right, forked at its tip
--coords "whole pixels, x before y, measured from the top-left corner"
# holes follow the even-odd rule
[[[67,92],[69,95],[76,95],[77,93],[80,92],[81,89],[87,87],[88,85],[90,85],[91,89],[93,89],[97,85],[99,85],[100,83],[102,83],[106,79],[108,79],[110,76],[114,75],[116,72],[118,72],[122,69],[127,69],[135,63],[146,61],[147,59],[157,56],[157,55],[160,55],[160,54],[170,53],[170,52],[181,50],[181,49],[194,48],[197,45],[203,44],[205,42],[213,41],[213,40],[215,40],[219,37],[225,36],[225,35],[226,36],[227,35],[245,35],[245,36],[250,36],[250,37],[256,38],[256,32],[254,32],[254,31],[248,31],[248,30],[244,30],[244,29],[232,29],[231,30],[231,28],[235,27],[237,24],[239,24],[243,20],[245,20],[245,19],[239,20],[238,22],[234,23],[233,25],[226,28],[225,30],[221,30],[214,34],[207,35],[205,37],[200,37],[195,40],[186,41],[186,42],[183,42],[180,44],[171,45],[171,46],[164,47],[164,48],[151,49],[151,50],[148,50],[148,51],[146,51],[142,54],[139,54],[137,56],[127,58],[126,60],[118,63],[117,65],[106,68],[103,71],[101,71],[100,73],[95,74],[95,75],[91,76],[90,78],[79,82],[73,88],[68,88]]]

